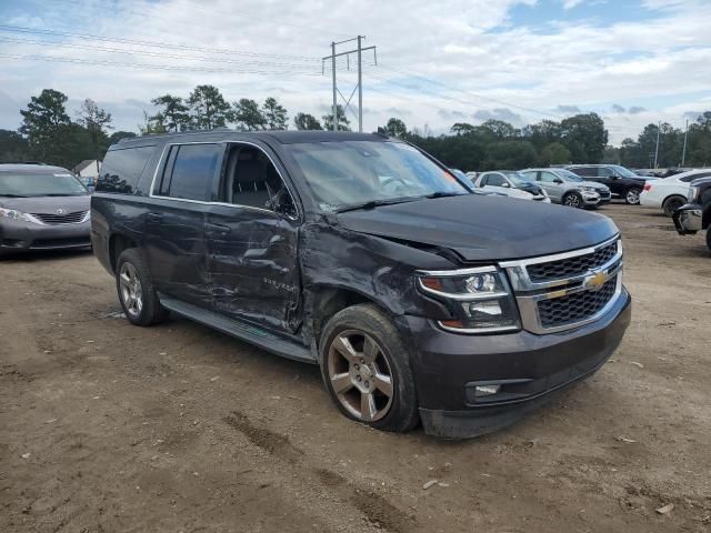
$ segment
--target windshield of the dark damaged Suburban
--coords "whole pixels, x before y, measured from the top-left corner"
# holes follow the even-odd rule
[[[323,211],[430,194],[468,194],[450,172],[402,142],[288,144]]]

